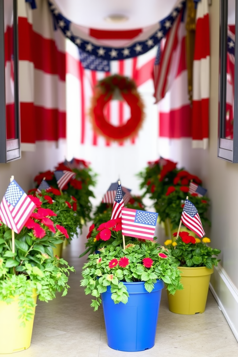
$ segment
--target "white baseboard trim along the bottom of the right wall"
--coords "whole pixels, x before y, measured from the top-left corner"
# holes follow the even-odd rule
[[[214,267],[210,290],[238,341],[238,290],[219,263]]]

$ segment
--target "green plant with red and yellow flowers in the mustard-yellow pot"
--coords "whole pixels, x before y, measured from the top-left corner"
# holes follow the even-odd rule
[[[177,236],[177,233],[174,233]],[[176,241],[168,239],[164,242],[169,248],[171,255],[175,258],[177,265],[181,267],[203,267],[212,269],[220,261],[214,256],[218,256],[221,251],[207,245],[211,240],[207,237],[201,239],[194,238],[189,232],[179,232]]]

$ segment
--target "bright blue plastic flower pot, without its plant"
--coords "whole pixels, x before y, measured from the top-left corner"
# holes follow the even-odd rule
[[[113,350],[137,352],[155,345],[162,280],[157,280],[152,292],[145,282],[126,283],[128,302],[115,304],[111,299],[111,287],[102,293],[102,307],[106,325],[107,344]]]

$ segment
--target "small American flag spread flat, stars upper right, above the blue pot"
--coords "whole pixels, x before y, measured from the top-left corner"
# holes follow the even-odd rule
[[[158,213],[122,208],[122,234],[153,240]]]

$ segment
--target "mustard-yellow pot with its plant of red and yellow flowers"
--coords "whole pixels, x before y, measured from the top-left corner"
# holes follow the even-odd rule
[[[177,232],[174,233],[177,236]],[[207,294],[213,267],[217,266],[221,253],[207,245],[210,239],[194,238],[186,231],[179,232],[176,241],[166,240],[164,245],[177,262],[181,272],[182,291],[168,295],[169,310],[183,315],[202,313],[206,308]]]

